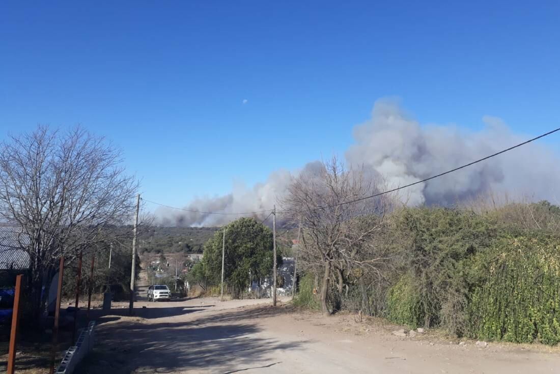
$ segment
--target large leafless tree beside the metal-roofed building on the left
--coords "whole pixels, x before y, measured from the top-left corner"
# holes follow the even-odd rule
[[[0,219],[21,231],[36,316],[60,256],[72,260],[117,232],[105,229],[129,221],[137,188],[120,152],[82,128],[61,133],[40,126],[0,146]]]

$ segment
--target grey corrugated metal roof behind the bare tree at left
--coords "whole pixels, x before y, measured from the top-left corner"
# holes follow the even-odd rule
[[[21,249],[27,243],[29,238],[16,227],[0,227],[0,270],[29,268],[29,254]]]

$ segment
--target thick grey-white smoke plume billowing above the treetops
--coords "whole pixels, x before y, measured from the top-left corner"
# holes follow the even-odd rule
[[[371,119],[353,130],[347,165],[360,165],[384,176],[390,187],[413,183],[525,141],[499,118],[484,116],[480,131],[455,126],[420,125],[396,102],[379,100]],[[484,191],[513,191],[534,199],[557,199],[558,155],[542,143],[529,143],[488,161],[405,190],[410,205],[453,204]],[[319,167],[310,162],[302,170]],[[301,171],[297,171],[301,172]],[[290,183],[290,172],[272,172],[253,188],[234,186],[230,194],[197,198],[185,208],[204,212],[256,212],[271,209]],[[264,219],[268,213],[255,214]],[[239,216],[209,215],[159,208],[162,225],[218,226]]]

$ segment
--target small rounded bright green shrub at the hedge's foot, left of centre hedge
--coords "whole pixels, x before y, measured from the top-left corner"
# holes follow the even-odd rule
[[[410,277],[402,277],[389,289],[387,317],[391,322],[416,329],[424,322],[420,298]]]

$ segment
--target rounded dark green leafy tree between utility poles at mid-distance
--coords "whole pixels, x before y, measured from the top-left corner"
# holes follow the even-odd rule
[[[254,218],[239,218],[225,226],[224,279],[234,298],[239,298],[253,280],[272,274],[272,231]],[[222,272],[223,230],[204,245],[202,259],[208,282],[218,284]],[[282,257],[278,255],[278,264]]]

